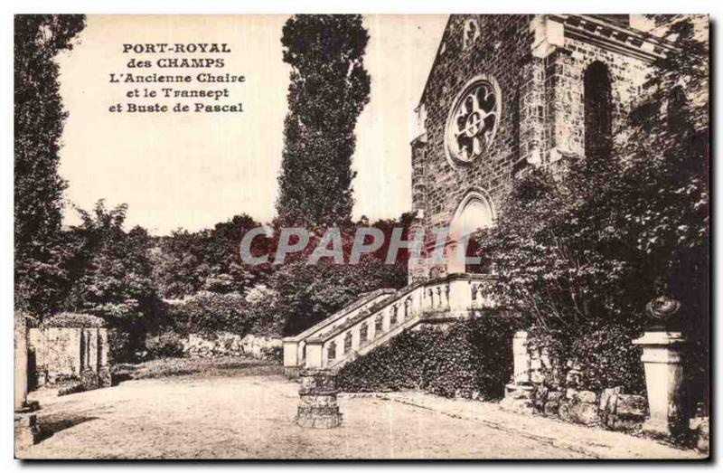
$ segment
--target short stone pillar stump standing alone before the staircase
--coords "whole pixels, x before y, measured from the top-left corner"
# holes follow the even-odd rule
[[[331,370],[303,369],[299,373],[296,424],[312,429],[333,429],[342,424],[336,404],[336,375]]]

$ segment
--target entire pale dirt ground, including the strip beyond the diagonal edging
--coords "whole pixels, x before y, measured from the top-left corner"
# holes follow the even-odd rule
[[[621,432],[426,393],[341,394],[343,425],[296,426],[298,384],[276,362],[228,357],[119,367],[117,385],[41,403],[21,459],[700,459]],[[125,381],[124,381],[125,380]]]

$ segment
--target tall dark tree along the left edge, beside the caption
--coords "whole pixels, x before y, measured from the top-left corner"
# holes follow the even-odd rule
[[[58,52],[72,49],[83,15],[19,14],[14,19],[15,303],[41,316],[57,308],[62,191],[58,175],[63,120]]]

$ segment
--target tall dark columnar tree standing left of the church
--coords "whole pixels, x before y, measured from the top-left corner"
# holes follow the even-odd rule
[[[296,15],[284,26],[291,65],[277,212],[286,225],[351,221],[354,127],[369,101],[362,16]]]

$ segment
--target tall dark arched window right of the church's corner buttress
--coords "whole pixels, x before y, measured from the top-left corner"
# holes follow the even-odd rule
[[[613,92],[607,66],[595,61],[585,71],[585,156],[607,158],[613,143]]]

